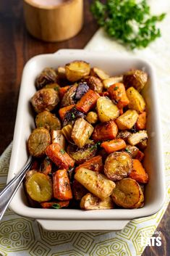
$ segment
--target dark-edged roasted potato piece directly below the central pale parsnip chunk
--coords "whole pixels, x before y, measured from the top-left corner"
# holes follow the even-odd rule
[[[69,146],[67,146],[67,153],[75,160],[77,165],[80,165],[82,162],[94,157],[97,153],[97,149],[98,147],[94,143],[85,144],[81,149],[74,144],[69,144]]]

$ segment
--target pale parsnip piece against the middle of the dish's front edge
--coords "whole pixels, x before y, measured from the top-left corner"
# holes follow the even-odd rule
[[[82,197],[80,202],[80,208],[84,210],[106,210],[113,209],[114,203],[111,197],[108,197],[104,200],[95,197],[93,194],[86,194]]]

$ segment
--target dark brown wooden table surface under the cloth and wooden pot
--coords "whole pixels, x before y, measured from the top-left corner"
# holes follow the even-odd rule
[[[90,0],[85,0],[85,22],[82,31],[69,41],[44,43],[25,30],[22,1],[0,1],[0,154],[12,141],[22,69],[28,59],[37,54],[53,53],[58,49],[82,49],[98,26],[90,14]],[[162,246],[146,247],[143,256],[168,256],[170,248],[170,205],[158,231]],[[133,255],[135,256],[135,255]]]

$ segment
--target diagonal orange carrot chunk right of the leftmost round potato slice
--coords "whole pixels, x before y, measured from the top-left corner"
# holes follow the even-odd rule
[[[51,144],[46,148],[46,155],[59,168],[69,169],[75,165],[75,161],[61,148],[58,143]]]

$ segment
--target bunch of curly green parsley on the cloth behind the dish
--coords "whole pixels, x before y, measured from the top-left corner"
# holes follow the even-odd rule
[[[130,49],[145,48],[160,37],[161,31],[156,28],[156,22],[166,15],[150,15],[146,0],[139,3],[135,0],[106,0],[105,4],[95,0],[90,10],[109,36]]]

